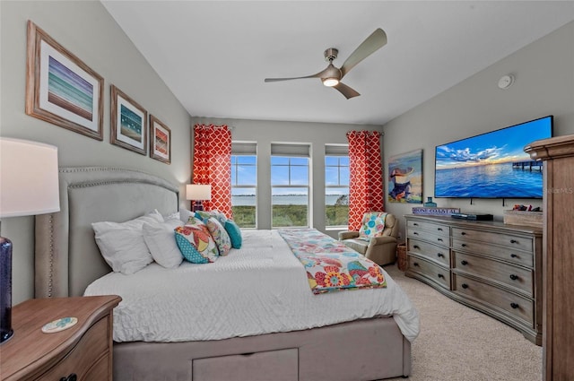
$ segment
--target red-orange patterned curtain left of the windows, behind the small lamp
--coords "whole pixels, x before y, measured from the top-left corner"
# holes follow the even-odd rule
[[[194,184],[211,184],[212,199],[204,210],[231,211],[231,131],[228,126],[194,126]]]

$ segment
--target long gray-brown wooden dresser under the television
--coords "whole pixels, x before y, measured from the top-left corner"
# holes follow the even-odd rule
[[[407,276],[542,344],[542,229],[409,215]]]

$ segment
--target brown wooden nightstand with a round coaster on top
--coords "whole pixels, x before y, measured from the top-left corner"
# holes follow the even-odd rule
[[[30,299],[13,307],[14,335],[0,345],[0,379],[111,380],[111,311],[120,301],[115,295]],[[57,333],[41,331],[68,316],[78,323]]]

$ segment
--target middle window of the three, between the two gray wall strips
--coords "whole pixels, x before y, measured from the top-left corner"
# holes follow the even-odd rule
[[[272,228],[309,227],[309,145],[271,146]]]

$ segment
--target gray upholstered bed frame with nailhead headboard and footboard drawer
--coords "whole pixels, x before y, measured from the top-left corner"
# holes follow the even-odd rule
[[[80,296],[94,282],[109,283],[101,279],[114,274],[109,274],[109,265],[94,241],[92,222],[128,221],[154,209],[167,215],[177,212],[179,207],[178,187],[141,171],[117,168],[60,169],[60,199],[61,212],[36,218],[36,298]],[[256,239],[257,234],[272,233],[246,232],[246,240]],[[273,258],[267,259],[273,262]],[[161,273],[160,267],[150,264],[144,271]],[[195,270],[182,264],[178,271]],[[385,275],[387,288],[397,287]],[[309,298],[335,298],[331,294],[350,298],[362,292],[375,295],[387,291],[312,295],[309,290]],[[394,298],[404,295],[401,292],[396,291]],[[416,321],[407,327],[399,315],[413,315],[411,318]],[[226,316],[228,321],[233,321],[233,317]],[[115,312],[115,325],[120,321]],[[376,380],[411,373],[409,339],[413,340],[418,333],[414,309],[400,314],[398,311],[381,314],[375,310],[370,317],[323,324],[327,325],[300,326],[294,331],[285,327],[273,333],[246,328],[234,337],[221,336],[224,338],[205,334],[170,341],[160,337],[157,339],[160,342],[146,341],[145,337],[124,340],[116,337],[115,326],[114,379]]]

